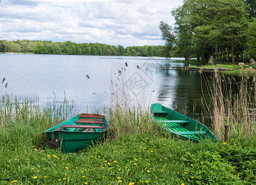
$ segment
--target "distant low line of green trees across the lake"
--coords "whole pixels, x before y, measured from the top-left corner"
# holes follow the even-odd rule
[[[66,55],[127,55],[127,56],[161,56],[166,46],[110,46],[100,43],[73,43],[71,41],[54,43],[52,41],[0,40],[0,52],[21,52],[34,54]]]

